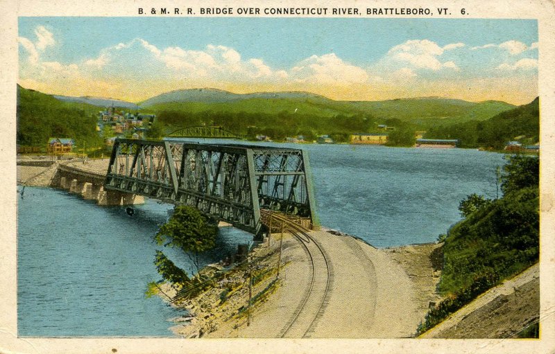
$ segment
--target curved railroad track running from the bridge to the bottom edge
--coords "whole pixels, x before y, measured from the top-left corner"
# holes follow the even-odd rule
[[[270,211],[261,211],[268,217]],[[332,263],[326,251],[309,235],[309,230],[287,220],[282,215],[273,214],[271,217],[281,222],[285,231],[289,231],[297,238],[310,260],[310,284],[305,290],[302,300],[298,304],[293,316],[280,331],[279,337],[306,338],[311,337],[325,311],[330,298],[333,282]]]

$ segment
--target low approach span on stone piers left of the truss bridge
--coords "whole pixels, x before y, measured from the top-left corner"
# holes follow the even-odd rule
[[[85,200],[96,200],[99,205],[143,204],[144,197],[120,191],[105,191],[104,175],[86,172],[69,166],[59,166],[51,186],[75,193]]]

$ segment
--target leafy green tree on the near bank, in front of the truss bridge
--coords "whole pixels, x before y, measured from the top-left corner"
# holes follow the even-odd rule
[[[215,222],[205,217],[192,206],[176,206],[173,215],[156,233],[155,240],[165,246],[180,247],[185,251],[200,271],[199,256],[216,245],[218,227]]]

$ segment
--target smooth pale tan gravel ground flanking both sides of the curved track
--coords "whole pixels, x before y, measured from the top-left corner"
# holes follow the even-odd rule
[[[325,249],[333,276],[325,306],[306,337],[395,338],[416,332],[424,307],[415,295],[418,284],[390,257],[391,251],[350,236],[325,231],[311,235]],[[310,271],[299,242],[288,236],[284,245],[282,285],[253,312],[250,326],[244,320],[222,319],[205,337],[280,337],[302,301]],[[431,268],[426,272],[432,274]]]

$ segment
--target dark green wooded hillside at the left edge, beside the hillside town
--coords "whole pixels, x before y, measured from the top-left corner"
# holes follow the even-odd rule
[[[96,133],[98,107],[65,103],[17,85],[17,144],[44,146],[51,137],[71,138],[81,145],[101,145]]]

